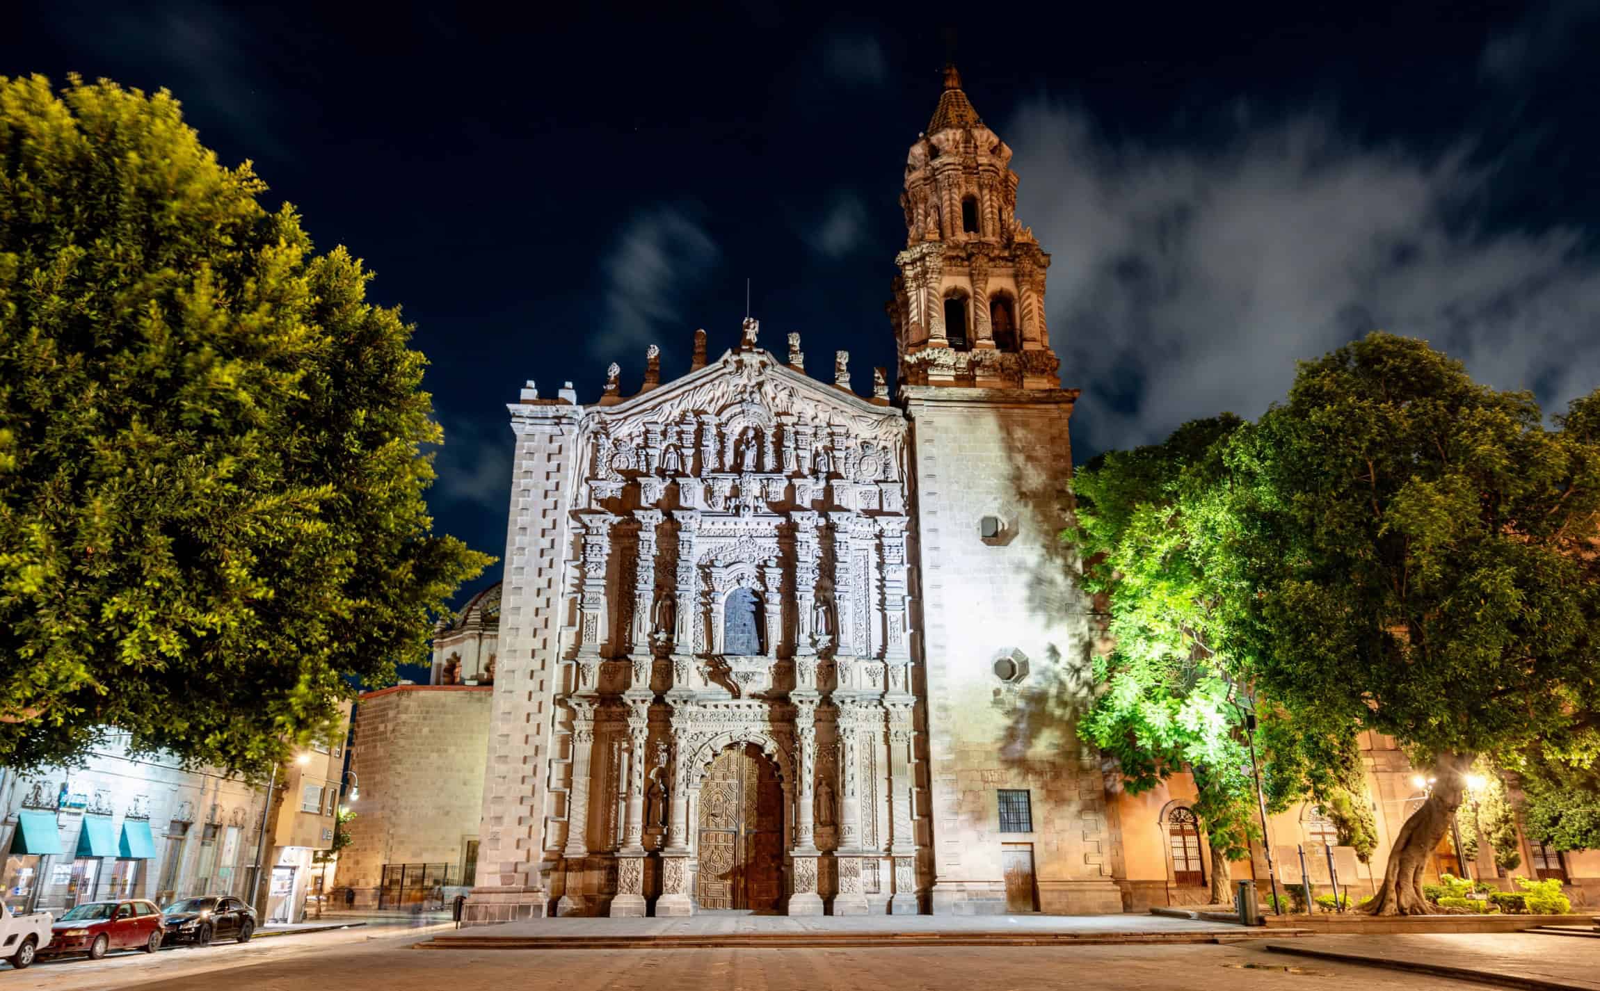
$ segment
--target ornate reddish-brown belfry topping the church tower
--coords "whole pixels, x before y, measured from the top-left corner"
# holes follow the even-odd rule
[[[955,66],[906,157],[906,249],[890,320],[906,385],[1059,388],[1045,326],[1050,256],[1016,219],[1011,149]]]

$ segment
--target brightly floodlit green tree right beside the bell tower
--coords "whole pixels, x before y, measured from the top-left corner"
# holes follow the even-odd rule
[[[1090,591],[1102,596],[1110,652],[1096,659],[1101,687],[1078,732],[1117,758],[1123,785],[1144,791],[1174,772],[1195,783],[1194,812],[1211,847],[1211,898],[1227,901],[1229,860],[1248,854],[1258,794],[1245,719],[1262,734],[1269,807],[1315,798],[1350,842],[1370,852],[1371,830],[1349,801],[1358,777],[1354,732],[1288,726],[1282,706],[1259,702],[1230,654],[1240,607],[1213,574],[1230,478],[1224,464],[1234,416],[1179,427],[1162,444],[1114,451],[1074,478],[1077,529]],[[1342,799],[1342,801],[1341,801]]]

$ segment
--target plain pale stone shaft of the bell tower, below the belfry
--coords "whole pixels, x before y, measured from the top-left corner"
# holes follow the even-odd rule
[[[1002,844],[1030,844],[1040,909],[1120,911],[1099,758],[1072,726],[1090,644],[1075,563],[1058,540],[1075,393],[902,395],[922,542],[931,908],[1005,911]],[[1002,788],[1027,790],[1030,833],[1000,833]]]

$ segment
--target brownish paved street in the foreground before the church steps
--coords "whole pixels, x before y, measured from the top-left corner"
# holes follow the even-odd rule
[[[122,988],[126,985],[102,985]],[[1426,975],[1294,961],[1246,945],[939,949],[408,949],[397,940],[178,977],[146,991],[1466,991]]]

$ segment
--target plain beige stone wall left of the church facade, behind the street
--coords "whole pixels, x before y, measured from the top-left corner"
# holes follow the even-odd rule
[[[397,686],[362,695],[352,770],[350,846],[338,887],[357,905],[376,901],[386,863],[448,863],[461,881],[466,841],[478,836],[490,687]]]

